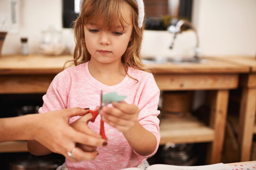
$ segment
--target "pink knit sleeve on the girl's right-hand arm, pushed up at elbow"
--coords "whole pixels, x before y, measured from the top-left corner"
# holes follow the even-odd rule
[[[160,90],[155,83],[153,75],[150,74],[138,103],[138,108],[140,109],[138,121],[146,130],[152,132],[155,135],[157,146],[153,153],[145,157],[153,156],[156,153],[160,142],[159,119],[157,118],[157,116],[160,114],[160,111],[157,110],[159,95]]]

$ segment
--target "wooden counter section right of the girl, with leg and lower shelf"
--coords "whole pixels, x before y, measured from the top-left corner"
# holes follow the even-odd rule
[[[205,62],[192,64],[154,64],[155,81],[160,90],[209,90],[210,125],[196,118],[164,119],[160,121],[160,144],[209,142],[206,163],[221,161],[229,89],[238,87],[241,73],[248,73],[247,66],[223,62],[215,57],[205,57]]]

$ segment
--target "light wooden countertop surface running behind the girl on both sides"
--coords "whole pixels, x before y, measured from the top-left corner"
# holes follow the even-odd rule
[[[244,56],[240,59],[243,60]],[[8,74],[57,74],[63,70],[64,63],[73,56],[2,55],[0,56],[0,75]],[[221,57],[204,57],[201,63],[147,64],[153,73],[247,73],[247,64],[223,59]]]

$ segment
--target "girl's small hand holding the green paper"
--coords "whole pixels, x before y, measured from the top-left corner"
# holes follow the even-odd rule
[[[134,127],[138,119],[139,109],[134,104],[124,101],[113,102],[113,108],[103,106],[100,110],[101,119],[120,132],[126,132]]]

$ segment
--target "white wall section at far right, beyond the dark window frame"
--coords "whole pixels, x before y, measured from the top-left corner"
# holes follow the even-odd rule
[[[193,23],[208,55],[256,55],[256,0],[194,0]]]

